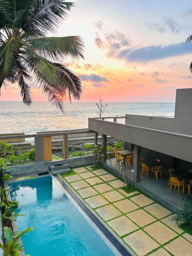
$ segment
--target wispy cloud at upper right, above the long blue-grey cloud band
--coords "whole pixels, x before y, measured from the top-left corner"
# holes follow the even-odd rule
[[[171,17],[163,17],[163,23],[145,23],[145,25],[152,29],[158,31],[160,34],[170,31],[173,34],[179,34],[182,30],[182,27],[179,23],[175,22],[175,20]]]

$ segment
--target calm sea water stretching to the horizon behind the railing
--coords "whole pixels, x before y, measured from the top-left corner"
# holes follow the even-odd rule
[[[125,114],[174,116],[175,103],[107,103],[103,116]],[[28,108],[22,102],[0,101],[0,133],[32,134],[40,131],[82,129],[88,127],[88,117],[96,117],[94,102],[66,103],[62,114],[48,102],[33,102]]]

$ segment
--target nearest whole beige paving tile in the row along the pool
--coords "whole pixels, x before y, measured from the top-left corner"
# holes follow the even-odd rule
[[[133,232],[129,234],[129,236],[123,238],[123,240],[138,255],[145,255],[148,252],[159,247],[158,243],[156,243],[151,237],[147,236],[147,234],[143,230]]]

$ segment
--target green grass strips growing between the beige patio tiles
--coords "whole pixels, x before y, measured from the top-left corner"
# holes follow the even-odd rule
[[[83,167],[86,167],[86,166],[83,166]],[[97,166],[91,166],[91,169],[92,170],[97,170],[97,169],[104,169],[104,170],[106,170],[106,172],[108,172],[108,173],[110,173],[110,171],[108,170],[108,169],[106,169],[106,168],[104,168],[104,167],[102,167],[102,166],[99,166],[99,167],[97,167]],[[88,170],[88,172],[91,172],[91,170],[89,170],[89,169],[87,169]],[[72,169],[72,171],[70,172],[70,173],[68,173],[68,174],[64,174],[64,175],[61,175],[61,177],[62,178],[65,178],[65,177],[67,177],[67,176],[72,176],[72,175],[75,175],[76,173],[75,173],[75,168],[74,169]],[[112,174],[112,175],[114,175],[114,174]],[[100,175],[99,175],[100,176]],[[96,175],[96,177],[99,177],[98,175]],[[115,175],[114,175],[115,176]],[[115,177],[117,177],[117,176],[115,176]],[[117,177],[117,179],[119,179],[118,177]],[[84,180],[84,181],[86,181],[86,179],[83,179],[82,178],[82,180]],[[121,179],[119,179],[119,180],[121,180]],[[73,188],[73,186],[67,181],[67,180],[65,180],[72,188]],[[103,183],[106,183],[106,184],[108,184],[108,182],[105,182],[105,181],[103,181],[102,183],[100,183],[100,184],[103,184]],[[108,184],[109,185],[109,184]],[[92,187],[92,188],[94,188],[94,185],[90,185],[90,187]],[[95,188],[94,188],[95,189]],[[113,188],[112,187],[112,190],[110,190],[110,191],[113,191],[113,190],[116,190],[116,191],[118,191],[118,189],[119,188],[117,188],[117,189],[115,189],[115,188]],[[123,191],[125,191],[127,194],[129,194],[129,193],[132,193],[133,191],[138,191],[140,194],[143,194],[144,196],[146,196],[146,197],[148,197],[148,198],[151,198],[151,197],[149,197],[149,196],[147,196],[145,193],[142,193],[142,191],[140,191],[139,189],[137,189],[137,188],[135,188],[135,186],[134,185],[129,185],[129,187],[126,189],[126,187],[121,187],[121,189],[123,190]],[[75,190],[75,188],[73,188],[73,190]],[[78,190],[75,190],[76,191],[76,193],[81,197],[81,195],[78,193]],[[97,190],[96,190],[97,191]],[[118,191],[121,195],[123,195],[120,191]],[[103,193],[105,193],[105,192],[103,192],[103,193],[99,193],[98,191],[97,191],[97,195],[101,195],[103,198],[105,198],[102,194]],[[96,196],[97,196],[96,195]],[[137,194],[138,195],[138,194]],[[133,195],[133,197],[134,196],[137,196],[137,195]],[[128,195],[127,196],[125,196],[125,195],[123,195],[125,198],[124,199],[131,199]],[[91,197],[94,197],[94,196],[91,196]],[[88,198],[91,198],[91,197],[88,197]],[[82,197],[81,197],[82,198]],[[82,200],[86,203],[86,204],[88,204],[86,201],[85,201],[85,199],[88,199],[88,198],[82,198]],[[105,198],[106,199],[106,198]],[[124,199],[121,199],[121,200],[124,200]],[[160,204],[159,202],[157,202],[157,201],[155,201],[153,198],[151,198],[154,202],[153,203],[151,203],[151,204],[154,204],[154,203],[158,203],[158,204]],[[108,199],[106,199],[107,201],[109,201]],[[121,201],[121,200],[118,200],[118,201]],[[114,202],[113,202],[114,203]],[[150,251],[150,252],[148,252],[146,255],[150,255],[150,254],[152,254],[153,252],[155,252],[155,251],[157,251],[158,249],[160,249],[160,248],[163,248],[163,249],[165,249],[164,248],[164,246],[165,245],[167,245],[168,243],[170,243],[170,242],[172,242],[172,241],[174,241],[175,239],[177,239],[177,238],[179,238],[179,237],[182,237],[182,234],[184,234],[184,232],[182,232],[181,234],[178,234],[174,229],[172,229],[172,228],[170,228],[169,226],[167,226],[167,225],[165,225],[164,223],[162,223],[162,224],[164,224],[165,226],[167,226],[168,228],[170,228],[170,229],[172,229],[173,231],[175,231],[176,232],[176,234],[178,235],[178,236],[176,236],[175,238],[173,238],[172,240],[169,240],[169,241],[167,241],[166,243],[164,243],[164,244],[160,244],[159,242],[157,242],[153,237],[151,237],[150,236],[150,234],[148,234],[143,228],[145,228],[146,226],[149,226],[149,225],[151,225],[151,224],[153,224],[153,223],[155,223],[155,222],[157,222],[157,221],[160,221],[161,222],[161,219],[163,219],[163,218],[165,218],[165,217],[167,217],[167,216],[169,216],[169,215],[172,215],[172,214],[169,214],[169,215],[167,215],[167,216],[165,216],[165,217],[163,217],[163,218],[161,218],[161,219],[157,219],[155,216],[153,216],[152,214],[150,214],[150,212],[147,212],[145,209],[144,209],[144,207],[146,207],[146,206],[148,206],[148,205],[151,205],[151,204],[148,204],[148,205],[145,205],[145,206],[143,206],[143,207],[141,207],[141,206],[139,206],[138,204],[136,204],[135,202],[135,204],[139,207],[138,209],[136,209],[136,210],[139,210],[139,209],[143,209],[143,210],[145,210],[146,212],[147,212],[147,214],[150,214],[151,216],[153,216],[155,219],[156,219],[156,221],[154,221],[154,222],[152,222],[152,223],[149,223],[149,224],[147,224],[147,225],[145,225],[145,226],[143,226],[143,227],[139,227],[139,225],[137,224],[137,223],[135,223],[132,219],[130,219],[128,216],[126,216],[128,213],[130,213],[130,212],[133,212],[133,211],[136,211],[136,210],[133,210],[133,211],[130,211],[130,212],[126,212],[126,214],[123,214],[123,212],[118,208],[118,207],[116,207],[114,204],[113,204],[112,202],[109,202],[109,204],[105,204],[105,205],[103,205],[103,206],[106,206],[106,205],[113,205],[115,208],[117,208],[120,212],[121,212],[121,215],[120,216],[118,216],[118,217],[115,217],[115,218],[112,218],[112,219],[110,219],[110,220],[107,220],[107,221],[105,221],[98,213],[97,213],[97,211],[96,211],[96,209],[98,209],[98,208],[101,208],[101,207],[103,207],[103,206],[100,206],[100,207],[97,207],[97,208],[95,208],[95,209],[93,209],[89,204],[89,206],[92,208],[92,210],[96,213],[96,215],[97,216],[99,216],[99,218],[100,219],[102,219],[103,220],[103,222],[106,224],[106,225],[108,225],[109,227],[110,227],[110,229],[112,229],[113,230],[113,232],[115,232],[116,234],[117,234],[117,236],[120,238],[120,239],[122,239],[122,241],[123,242],[125,242],[124,240],[123,240],[123,238],[124,237],[126,237],[126,236],[128,236],[128,235],[130,235],[131,233],[133,233],[133,232],[136,232],[136,231],[138,231],[138,230],[143,230],[146,234],[147,234],[147,236],[149,236],[150,238],[152,238],[159,246],[157,247],[157,248],[155,248],[154,250],[152,250],[152,251]],[[160,205],[162,205],[162,204],[160,204]],[[166,208],[164,205],[162,205],[164,208]],[[138,226],[138,229],[136,229],[136,230],[134,230],[134,231],[132,231],[132,232],[130,232],[130,233],[127,233],[127,234],[124,234],[123,236],[119,236],[119,234],[108,224],[108,222],[109,221],[111,221],[111,220],[114,220],[114,219],[117,219],[117,218],[119,218],[119,217],[122,217],[122,216],[125,216],[126,218],[128,218],[128,219],[130,219],[134,224],[136,224],[137,226]],[[182,226],[182,227],[181,227]],[[191,234],[190,232],[191,232],[191,229],[190,229],[190,227],[187,227],[185,224],[182,224],[182,225],[180,225],[179,226],[181,229],[183,229],[185,232],[188,232],[189,234]],[[190,242],[189,242],[190,243]],[[129,244],[127,244],[128,246],[129,246]],[[131,248],[131,246],[129,246],[130,248]],[[131,248],[132,249],[132,248]],[[133,249],[132,249],[133,250]],[[133,250],[134,251],[134,250]],[[165,249],[165,251],[167,251],[170,255],[173,255],[170,251],[168,251],[167,249]]]

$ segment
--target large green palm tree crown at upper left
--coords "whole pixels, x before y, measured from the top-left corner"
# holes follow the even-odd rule
[[[79,36],[46,37],[65,19],[73,3],[66,0],[0,0],[0,93],[18,84],[23,102],[32,103],[35,78],[39,91],[63,111],[60,96],[79,100],[81,80],[59,60],[82,57]]]

